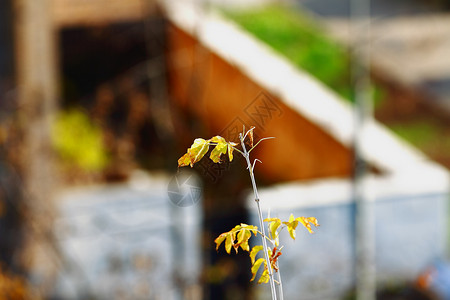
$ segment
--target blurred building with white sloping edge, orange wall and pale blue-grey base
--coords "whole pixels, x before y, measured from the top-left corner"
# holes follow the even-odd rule
[[[176,181],[176,160],[194,138],[220,134],[236,140],[244,126],[255,126],[257,138],[276,137],[254,151],[263,162],[256,175],[264,186],[264,213],[312,215],[321,223],[316,235],[302,234],[286,245],[280,258],[287,298],[301,293],[304,299],[338,299],[352,288],[358,128],[349,104],[200,6],[146,0],[2,5],[2,12],[11,14],[14,7],[17,17],[0,18],[8,25],[0,28],[11,29],[0,33],[0,40],[10,41],[0,47],[6,70],[0,69],[0,107],[7,99],[21,103],[25,109],[17,119],[24,123],[18,127],[26,138],[4,134],[16,125],[2,115],[0,142],[2,151],[12,149],[11,141],[17,142],[14,149],[31,149],[11,163],[23,178],[16,181],[18,189],[27,194],[21,198],[24,206],[12,207],[34,228],[28,245],[37,246],[28,252],[26,261],[32,263],[26,266],[30,282],[43,294],[62,299],[269,295],[267,287],[248,285],[248,257],[224,257],[213,245],[235,224],[255,222],[239,161],[200,162],[194,172],[203,187]],[[16,48],[5,46],[12,45],[13,36]],[[50,119],[72,108],[102,129],[112,161],[106,170],[86,176],[57,173],[50,166],[55,159],[46,152]],[[14,161],[17,153],[5,150],[2,160]],[[377,281],[412,280],[446,255],[448,172],[374,120],[364,128],[362,154]],[[166,173],[135,172],[140,168]],[[102,185],[65,186],[55,193],[61,183],[54,178],[67,185]],[[110,185],[113,181],[119,183]],[[8,181],[1,183],[12,190]],[[195,203],[184,207],[186,193]],[[39,218],[26,219],[28,214]],[[21,229],[14,222],[0,226]],[[20,249],[8,247],[5,261]]]

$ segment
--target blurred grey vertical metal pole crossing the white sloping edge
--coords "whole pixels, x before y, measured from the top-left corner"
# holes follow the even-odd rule
[[[368,166],[363,153],[363,140],[372,119],[370,92],[370,0],[350,1],[352,33],[351,65],[355,100],[354,199],[356,299],[376,299],[375,237],[373,201],[367,190]]]

